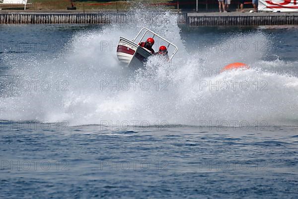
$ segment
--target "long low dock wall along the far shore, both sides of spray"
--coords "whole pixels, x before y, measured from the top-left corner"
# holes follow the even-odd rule
[[[43,23],[124,23],[125,12],[0,12],[0,24]],[[298,13],[180,13],[179,24],[192,26],[217,25],[297,25]]]

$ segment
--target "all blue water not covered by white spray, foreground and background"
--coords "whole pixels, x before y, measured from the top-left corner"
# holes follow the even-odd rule
[[[101,28],[0,25],[0,78],[20,67],[7,65],[7,59],[56,56],[74,34]],[[268,59],[297,61],[293,27],[182,27],[181,37],[196,49],[198,35],[217,41],[233,31],[262,31],[275,46]],[[292,65],[280,70],[296,71]],[[296,199],[297,151],[295,125],[115,128],[2,118],[0,198]]]

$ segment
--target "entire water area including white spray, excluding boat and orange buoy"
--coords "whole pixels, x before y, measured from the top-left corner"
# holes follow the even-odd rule
[[[0,25],[1,197],[297,198],[297,27],[148,16]],[[143,26],[178,46],[171,64],[119,66]]]

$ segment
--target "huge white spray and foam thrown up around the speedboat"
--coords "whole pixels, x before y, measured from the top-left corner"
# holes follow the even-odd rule
[[[49,81],[51,89],[21,90],[17,95],[2,97],[0,119],[68,120],[71,125],[125,120],[146,120],[151,125],[163,120],[188,125],[234,120],[251,125],[263,120],[268,124],[297,123],[298,78],[266,72],[264,69],[285,64],[280,60],[263,61],[267,51],[243,51],[237,47],[223,51],[218,50],[221,46],[213,46],[189,52],[180,37],[175,14],[163,11],[152,16],[150,10],[137,10],[131,12],[131,18],[127,24],[114,23],[98,31],[75,34],[56,57],[11,63],[11,74],[20,81]],[[179,53],[171,64],[150,57],[145,68],[133,72],[119,65],[115,46],[103,48],[103,42],[116,45],[119,36],[134,38],[142,27],[178,46]],[[270,44],[270,37],[262,32],[233,34],[224,42],[241,41],[250,46],[252,41]],[[232,62],[244,62],[251,69],[219,73]],[[130,82],[129,89],[124,84],[119,85],[120,89],[102,87],[103,83],[125,81]],[[146,83],[142,89],[141,83]],[[148,85],[150,88],[145,91]]]

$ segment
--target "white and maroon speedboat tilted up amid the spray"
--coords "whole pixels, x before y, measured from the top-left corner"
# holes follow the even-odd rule
[[[148,28],[142,28],[133,40],[120,37],[117,46],[117,58],[119,62],[127,65],[130,68],[139,68],[141,66],[144,66],[144,63],[147,61],[147,58],[149,56],[154,55],[148,49],[139,45],[142,41],[146,40],[147,37],[151,37],[154,38],[154,40],[157,40],[157,42],[154,43],[155,49],[158,49],[158,44],[167,47],[169,62],[178,51],[177,46],[175,46],[168,40],[164,39],[155,32],[149,30]]]

